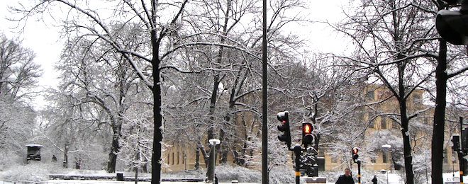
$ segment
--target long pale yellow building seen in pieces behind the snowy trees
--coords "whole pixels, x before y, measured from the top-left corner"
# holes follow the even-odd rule
[[[373,150],[362,150],[360,153],[360,159],[363,161],[362,166],[364,169],[373,170],[373,171],[381,171],[381,170],[391,170],[395,169],[403,169],[403,142],[401,142],[401,147],[393,147],[391,151],[385,150],[381,146],[384,144],[391,144],[390,137],[381,137],[378,138],[378,134],[384,132],[384,136],[391,135],[392,137],[396,137],[401,140],[401,131],[400,125],[394,121],[394,119],[398,119],[397,117],[399,114],[399,105],[396,102],[394,97],[391,97],[391,92],[385,88],[384,86],[379,85],[372,85],[369,84],[364,88],[362,91],[362,95],[367,103],[374,103],[373,105],[369,105],[367,107],[363,107],[360,113],[357,113],[359,116],[357,119],[361,120],[360,125],[364,125],[364,122],[369,122],[367,130],[364,132],[364,137],[374,137],[372,139],[380,139],[377,140],[379,145],[374,145]],[[409,134],[412,137],[416,137],[417,139],[411,139],[411,146],[413,149],[420,151],[426,150],[428,154],[427,156],[427,164],[430,165],[430,145],[432,139],[432,127],[433,127],[433,108],[431,105],[424,104],[423,96],[425,91],[422,89],[416,88],[411,96],[408,97],[408,112],[415,113],[420,111],[418,117],[413,118],[410,121],[410,126],[416,126],[411,128]],[[325,100],[326,101],[326,100]],[[448,110],[448,108],[447,108]],[[462,111],[467,114],[467,111]],[[249,126],[255,124],[254,115],[251,113],[238,113],[235,117],[235,122],[238,125],[242,126]],[[414,122],[418,122],[417,125]],[[420,126],[420,127],[417,127]],[[450,141],[450,136],[452,134],[459,134],[458,130],[452,130],[450,128],[451,124],[447,123],[447,134],[445,137],[445,142]],[[257,129],[258,127],[252,126],[252,129]],[[293,127],[291,127],[291,131]],[[455,131],[455,132],[454,132]],[[291,132],[292,134],[292,132]],[[237,136],[245,137],[245,139],[251,139],[250,135],[247,134],[247,130],[240,129],[238,130]],[[260,136],[260,135],[259,135]],[[291,137],[294,139],[294,137]],[[371,138],[369,138],[371,139]],[[396,141],[398,142],[398,141]],[[323,144],[323,141],[321,141]],[[368,142],[364,144],[374,144],[374,142]],[[206,145],[206,144],[204,144]],[[363,145],[364,147],[372,147],[369,145]],[[243,150],[247,152],[247,155],[252,157],[257,156],[260,159],[260,150],[246,150],[247,146],[245,146],[245,142],[238,142],[234,145],[233,149],[235,150]],[[198,151],[197,151],[198,150]],[[217,149],[220,150],[219,148]],[[415,156],[414,151],[412,151],[413,157]],[[206,151],[209,151],[209,148],[206,148]],[[345,158],[339,156],[333,156],[333,152],[335,150],[331,149],[330,147],[326,146],[319,146],[318,156],[323,157],[325,159],[325,171],[342,171],[342,169],[348,167],[348,163],[351,161],[351,148],[348,151],[348,154]],[[394,151],[394,152],[392,152]],[[197,153],[198,152],[198,153]],[[234,154],[240,154],[238,152]],[[289,154],[291,154],[289,152]],[[452,162],[454,154],[452,154],[452,150],[450,146],[445,145],[444,151],[444,170],[451,171],[452,166],[457,168],[458,162]],[[455,155],[456,156],[456,155]],[[205,161],[202,151],[197,149],[197,144],[172,144],[171,146],[167,147],[165,151],[162,153],[163,160],[165,164],[163,165],[162,171],[163,172],[177,172],[177,171],[184,171],[184,170],[191,170],[196,168],[197,164],[200,168],[205,168]],[[221,153],[218,152],[216,163],[220,163]],[[394,161],[394,159],[398,159]],[[456,159],[455,159],[456,160]],[[260,161],[260,160],[259,160]],[[413,161],[416,161],[413,158]],[[233,156],[233,151],[230,151],[227,155],[226,163],[236,164],[240,163],[242,165],[243,161],[236,160]],[[289,160],[289,164],[292,166],[292,159]],[[252,167],[245,165],[247,167]],[[253,167],[260,170],[260,167]]]

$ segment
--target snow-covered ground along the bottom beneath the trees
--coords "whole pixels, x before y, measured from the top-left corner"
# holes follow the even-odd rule
[[[260,181],[261,178],[261,173],[259,171],[250,171],[245,168],[231,168],[228,166],[220,166],[219,171],[217,171],[218,176],[223,176],[225,178],[223,182],[221,183],[230,183],[230,180],[241,180],[243,183],[255,183],[257,181]],[[8,170],[3,170],[4,168],[0,168],[0,184],[6,184],[6,183],[25,183],[24,181],[40,181],[40,183],[47,183],[47,184],[53,184],[53,183],[78,183],[78,184],[84,184],[84,183],[121,183],[121,184],[130,184],[130,183],[135,183],[135,182],[120,182],[116,180],[48,180],[48,175],[49,174],[55,174],[55,175],[67,175],[67,176],[115,176],[115,173],[106,173],[106,171],[91,171],[91,170],[75,170],[75,169],[63,169],[60,166],[52,166],[52,165],[47,165],[47,164],[30,164],[28,166],[12,166],[10,167],[11,169]],[[3,171],[2,171],[3,170]],[[335,173],[331,172],[330,174],[326,175],[326,173],[322,173],[323,177],[327,177],[328,183],[335,183],[336,178],[341,172],[337,171]],[[363,173],[363,178],[362,178],[362,183],[367,184],[371,183],[371,179],[374,176],[374,174],[377,174],[377,178],[379,180],[379,183],[386,183],[387,180],[387,175],[385,173],[374,173],[374,172],[364,172]],[[455,178],[453,177],[455,175]],[[132,177],[134,176],[134,173],[124,173],[125,177]],[[144,174],[140,173],[140,177],[143,178],[149,178],[150,174]],[[270,178],[274,178],[274,176],[293,176],[292,173],[287,173],[287,172],[282,172],[282,173],[272,173],[270,175]],[[402,184],[404,183],[403,178],[401,178],[403,175],[402,173],[389,173],[388,175],[388,180],[389,183],[391,184]],[[187,173],[173,173],[173,174],[163,174],[163,178],[204,178],[204,171],[199,171],[197,172],[187,172]],[[291,178],[289,177],[289,178]],[[430,176],[429,176],[430,177]],[[445,182],[450,182],[450,181],[459,181],[459,173],[444,173],[443,174],[444,181]],[[255,178],[255,180],[252,180]],[[23,182],[21,182],[23,181]],[[355,180],[357,182],[357,180]],[[430,178],[428,178],[428,181],[430,182]],[[464,177],[464,181],[468,181],[468,177]],[[294,180],[293,180],[294,182]],[[144,183],[144,184],[149,184],[149,182],[138,182],[138,183]],[[188,182],[162,182],[162,183],[188,183]],[[202,182],[199,182],[202,183]],[[275,180],[274,182],[270,183],[286,183],[286,182],[279,182],[278,180]]]

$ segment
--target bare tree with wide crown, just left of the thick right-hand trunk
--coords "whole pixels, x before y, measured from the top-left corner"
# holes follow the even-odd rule
[[[338,28],[357,47],[352,67],[379,81],[398,102],[394,120],[401,127],[406,183],[414,183],[409,123],[424,111],[409,108],[408,99],[433,74],[420,66],[430,68],[438,57],[432,47],[437,38],[430,26],[432,17],[427,15],[433,12],[426,8],[429,5],[426,1],[362,1]]]

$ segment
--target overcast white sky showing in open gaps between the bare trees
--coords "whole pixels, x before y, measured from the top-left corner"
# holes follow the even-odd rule
[[[39,80],[41,88],[55,87],[58,84],[57,72],[53,65],[60,57],[63,42],[60,40],[58,28],[47,25],[42,21],[30,18],[27,22],[24,32],[18,33],[16,23],[6,20],[11,17],[8,6],[18,4],[21,0],[0,1],[0,32],[3,32],[8,38],[19,38],[22,40],[23,47],[32,49],[35,54],[35,62],[40,64],[43,69],[43,76]],[[311,21],[330,21],[337,22],[342,19],[342,8],[350,6],[350,0],[329,0],[329,1],[307,1]],[[28,1],[22,1],[28,3]],[[30,1],[32,2],[32,1]],[[308,50],[312,52],[344,52],[346,49],[345,41],[340,38],[341,35],[334,33],[323,23],[311,23],[306,27],[291,28],[291,32],[304,35],[311,46]],[[38,89],[40,90],[40,89]],[[43,98],[35,100],[35,108],[40,109],[45,105]]]

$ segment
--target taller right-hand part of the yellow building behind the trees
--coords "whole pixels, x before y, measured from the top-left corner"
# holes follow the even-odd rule
[[[396,98],[391,97],[391,91],[384,86],[369,85],[363,92],[368,103],[375,103],[374,105],[369,105],[368,107],[363,108],[363,115],[361,115],[360,119],[362,119],[362,122],[369,122],[364,137],[368,137],[368,139],[379,139],[376,141],[379,145],[369,145],[376,144],[376,142],[364,142],[365,145],[362,145],[363,147],[373,147],[374,150],[362,150],[362,154],[360,154],[360,159],[363,161],[362,166],[367,170],[374,171],[404,169],[401,128],[400,125],[394,121],[394,119],[399,120],[399,105]],[[415,161],[417,161],[415,158],[415,151],[417,153],[425,151],[424,154],[419,155],[419,159],[425,160],[428,166],[431,164],[430,145],[432,144],[434,111],[432,105],[424,104],[424,93],[425,91],[422,89],[416,88],[416,90],[411,93],[411,96],[408,97],[407,103],[408,115],[420,112],[417,117],[413,118],[409,122],[410,130],[408,133],[410,134],[410,137],[414,138],[411,139],[413,166],[416,166]],[[449,108],[447,108],[447,111],[448,110]],[[466,115],[467,112],[465,111],[464,113]],[[455,168],[457,168],[458,166],[458,161],[455,161],[457,159],[454,159],[454,156],[456,157],[457,155],[452,153],[450,146],[447,144],[447,142],[450,141],[452,134],[459,134],[459,131],[453,130],[452,126],[452,124],[446,123],[447,131],[445,135],[443,169],[447,172],[452,171],[452,167],[455,166]],[[384,132],[384,134],[382,134],[382,137],[379,137],[378,135],[382,132]],[[391,137],[389,137],[389,135],[391,135]],[[395,137],[398,138],[400,142],[391,139]],[[384,144],[392,144],[392,142],[399,142],[401,147],[393,147],[391,150],[381,147]],[[340,157],[332,156],[330,154],[333,151],[334,150],[326,148],[319,151],[319,156],[325,157],[325,170],[337,171],[337,168],[339,168],[338,170],[346,168],[348,166],[347,163],[343,163]],[[394,159],[397,160],[394,161]],[[347,159],[347,161],[351,161],[351,148],[349,151],[349,159]]]

